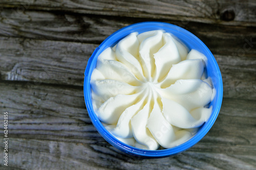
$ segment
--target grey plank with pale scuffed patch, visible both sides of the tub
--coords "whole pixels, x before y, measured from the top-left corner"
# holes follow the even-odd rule
[[[83,86],[84,70],[96,46],[0,37],[1,79]],[[256,99],[255,57],[215,58],[222,72],[224,97]]]

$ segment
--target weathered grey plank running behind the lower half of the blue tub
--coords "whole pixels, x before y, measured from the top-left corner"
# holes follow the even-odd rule
[[[0,89],[0,107],[9,112],[13,139],[110,146],[93,127],[79,87],[27,88],[26,82],[4,81]],[[216,123],[190,151],[219,153],[230,147],[238,155],[255,156],[255,109],[253,100],[224,98]],[[209,148],[211,143],[215,147]]]

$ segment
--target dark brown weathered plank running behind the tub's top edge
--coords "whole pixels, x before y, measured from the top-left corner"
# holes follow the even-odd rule
[[[77,15],[26,10],[19,15],[4,9],[0,13],[0,35],[32,39],[101,43],[115,31],[142,21],[173,23],[199,37],[214,54],[255,56],[255,27],[231,27],[174,20]],[[252,41],[248,44],[248,41]]]

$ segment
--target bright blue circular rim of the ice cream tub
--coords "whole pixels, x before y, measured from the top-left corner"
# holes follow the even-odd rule
[[[108,132],[103,127],[103,125],[101,124],[97,115],[94,113],[94,110],[92,107],[92,100],[91,100],[91,84],[90,84],[91,74],[89,75],[89,72],[92,73],[92,70],[94,69],[94,68],[92,68],[91,64],[92,64],[92,62],[95,62],[95,60],[97,60],[98,55],[105,49],[104,47],[107,46],[106,43],[109,43],[109,41],[114,36],[118,36],[118,34],[119,34],[119,36],[120,36],[120,34],[121,35],[123,35],[123,34],[129,35],[132,32],[136,32],[136,31],[133,31],[134,28],[150,27],[150,26],[156,26],[156,27],[159,26],[159,27],[163,27],[163,28],[166,27],[168,29],[175,29],[175,30],[178,30],[179,32],[182,32],[182,33],[188,35],[190,38],[193,38],[195,41],[197,41],[197,43],[200,44],[200,46],[202,46],[204,48],[204,50],[207,51],[208,55],[206,57],[208,60],[209,60],[209,58],[212,60],[211,62],[214,64],[214,65],[212,65],[212,67],[214,67],[214,70],[217,71],[216,74],[218,75],[217,76],[218,77],[217,85],[218,85],[219,90],[216,91],[216,94],[215,94],[216,98],[218,96],[218,100],[216,102],[215,108],[212,110],[212,114],[211,114],[210,118],[202,126],[202,128],[189,140],[178,145],[177,147],[170,148],[170,149],[163,149],[163,150],[138,149],[138,148],[132,147],[130,145],[127,145],[127,144],[119,141],[116,137],[114,137],[110,132]],[[119,40],[124,37],[125,36],[119,38]],[[112,46],[112,45],[114,45],[114,44],[112,43],[109,46]],[[104,46],[103,50],[101,49],[102,46]],[[131,154],[131,155],[135,155],[135,156],[139,156],[139,157],[147,157],[147,158],[150,158],[150,157],[151,158],[160,158],[160,157],[173,156],[173,155],[179,154],[181,152],[184,152],[187,149],[193,147],[193,145],[195,145],[197,142],[199,142],[206,135],[206,133],[210,130],[212,125],[214,125],[214,123],[218,117],[220,108],[221,108],[222,98],[223,98],[223,83],[222,83],[220,68],[218,66],[217,61],[215,60],[215,57],[211,54],[208,47],[198,37],[196,37],[194,34],[188,32],[187,30],[185,30],[179,26],[172,25],[170,23],[158,22],[158,21],[147,21],[147,22],[134,23],[133,25],[126,26],[126,27],[114,32],[95,49],[92,56],[88,60],[87,67],[84,72],[83,93],[84,93],[84,101],[87,106],[89,117],[90,117],[94,127],[97,129],[97,131],[101,134],[101,136],[106,141],[108,141],[110,144],[112,144],[115,148],[117,148],[125,153]]]

